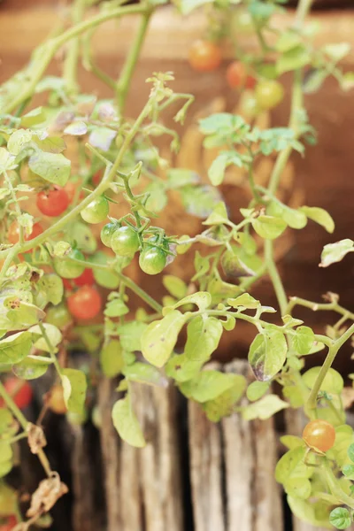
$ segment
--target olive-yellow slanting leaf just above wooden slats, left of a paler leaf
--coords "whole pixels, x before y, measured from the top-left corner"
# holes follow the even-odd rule
[[[234,406],[242,398],[246,388],[246,379],[241,374],[233,374],[234,384],[213,400],[204,402],[203,409],[209,420],[219,422],[234,412]]]

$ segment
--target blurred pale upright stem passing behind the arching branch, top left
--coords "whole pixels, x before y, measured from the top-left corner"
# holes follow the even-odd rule
[[[73,4],[72,19],[73,24],[78,24],[83,19],[86,7],[86,0],[75,0]],[[71,94],[76,94],[79,89],[78,83],[78,63],[80,56],[80,38],[75,37],[70,43],[69,50],[64,63],[63,78],[66,88]]]

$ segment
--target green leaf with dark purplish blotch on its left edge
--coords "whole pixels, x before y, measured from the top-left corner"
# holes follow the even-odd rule
[[[249,361],[257,380],[272,380],[284,365],[287,352],[286,339],[275,328],[267,327],[263,334],[256,335],[250,345]]]

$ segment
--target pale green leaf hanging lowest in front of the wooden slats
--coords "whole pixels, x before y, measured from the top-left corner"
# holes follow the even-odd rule
[[[114,427],[123,441],[135,446],[135,448],[145,446],[146,443],[142,435],[142,428],[132,409],[129,395],[121,398],[113,405],[112,420]]]

